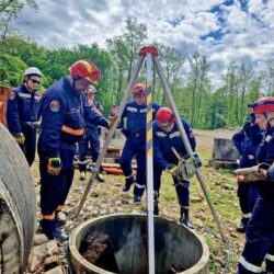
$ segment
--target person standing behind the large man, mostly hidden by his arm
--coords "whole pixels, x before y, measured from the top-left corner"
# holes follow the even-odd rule
[[[99,115],[102,116],[103,114],[103,106],[95,101],[95,88],[93,85],[89,85],[85,93],[85,103],[90,105],[90,107]],[[85,119],[85,133],[82,140],[79,141],[79,170],[80,170],[80,180],[83,181],[85,179],[85,171],[87,171],[87,162],[85,156],[90,146],[90,153],[93,162],[96,162],[99,153],[100,153],[100,134],[101,128],[90,123],[89,119]],[[103,168],[100,168],[102,171]],[[96,174],[96,180],[99,182],[104,182],[104,179]]]

